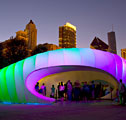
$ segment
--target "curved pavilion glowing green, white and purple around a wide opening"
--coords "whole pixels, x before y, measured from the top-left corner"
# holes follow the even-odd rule
[[[54,98],[43,96],[35,90],[37,82],[44,82],[46,86],[57,85],[67,79],[65,72],[87,71],[88,77],[79,80],[91,82],[92,74],[100,74],[101,78],[112,84],[112,96],[116,95],[119,80],[126,84],[126,61],[116,54],[94,50],[90,48],[67,48],[40,53],[11,64],[0,70],[0,101],[11,103],[52,103]],[[90,72],[89,72],[90,71]],[[56,75],[57,74],[57,75]],[[53,75],[55,77],[53,77]],[[82,75],[82,74],[81,74]],[[50,77],[51,76],[51,77]],[[72,73],[70,79],[75,79]],[[76,75],[77,77],[78,75]],[[97,77],[99,75],[97,74]],[[46,78],[46,80],[45,80]],[[65,82],[66,82],[65,81]],[[47,88],[49,90],[49,87]],[[111,97],[111,93],[106,97]]]

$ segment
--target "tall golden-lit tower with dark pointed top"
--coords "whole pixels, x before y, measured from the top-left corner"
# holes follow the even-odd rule
[[[26,25],[24,31],[27,32],[28,36],[28,48],[33,50],[37,45],[37,29],[32,20]]]

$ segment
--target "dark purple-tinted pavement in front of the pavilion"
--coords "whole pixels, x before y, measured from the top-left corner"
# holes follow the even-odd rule
[[[0,104],[0,120],[126,120],[126,106],[112,101]]]

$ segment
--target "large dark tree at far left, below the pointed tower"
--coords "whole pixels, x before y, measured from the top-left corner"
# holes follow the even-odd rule
[[[5,67],[30,56],[27,41],[16,38],[3,42],[2,64]]]

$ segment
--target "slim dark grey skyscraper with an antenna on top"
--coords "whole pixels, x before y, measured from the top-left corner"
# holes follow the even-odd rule
[[[108,32],[109,52],[117,54],[115,32]]]

